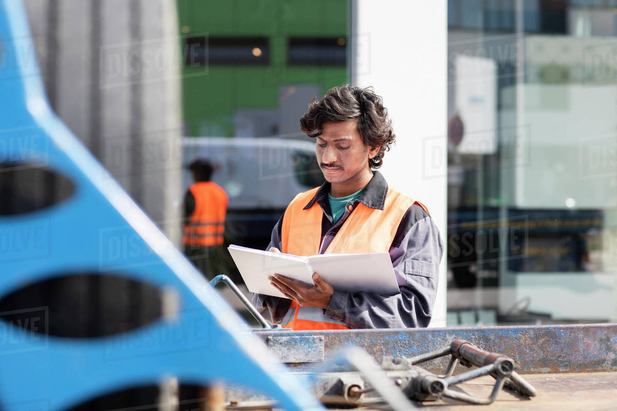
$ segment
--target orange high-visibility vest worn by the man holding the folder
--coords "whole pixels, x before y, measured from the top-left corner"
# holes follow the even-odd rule
[[[283,216],[281,251],[299,256],[319,253],[321,218],[323,211],[317,201],[304,210],[319,187],[294,198]],[[389,251],[400,221],[413,205],[418,203],[397,190],[388,188],[383,210],[358,203],[326,248],[324,254],[379,253]],[[418,203],[424,210],[426,207]],[[428,211],[427,211],[428,212]],[[347,330],[350,327],[339,320],[323,315],[319,307],[302,307],[292,301],[283,319],[283,328],[294,330]]]

